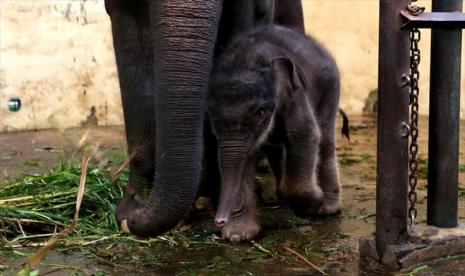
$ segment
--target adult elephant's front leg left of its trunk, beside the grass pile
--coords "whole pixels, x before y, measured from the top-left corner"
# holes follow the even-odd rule
[[[155,169],[155,90],[153,47],[147,4],[143,1],[106,0],[123,102],[129,155],[129,182],[117,208],[117,219],[140,205],[150,190]],[[139,200],[137,200],[139,199]]]

